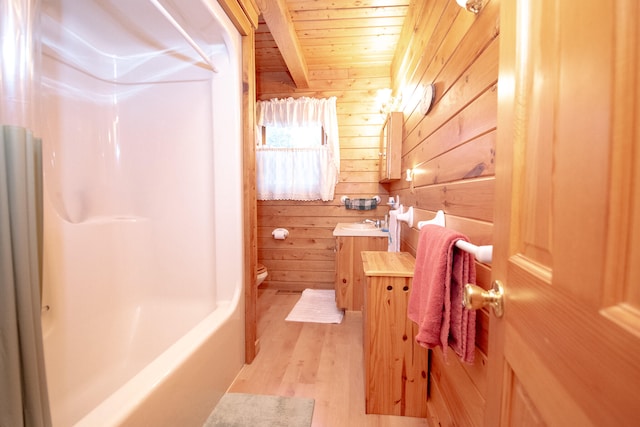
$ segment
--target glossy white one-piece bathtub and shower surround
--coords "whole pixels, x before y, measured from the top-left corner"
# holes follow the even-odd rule
[[[54,426],[201,426],[244,362],[240,36],[162,5],[217,72],[149,0],[42,0]]]

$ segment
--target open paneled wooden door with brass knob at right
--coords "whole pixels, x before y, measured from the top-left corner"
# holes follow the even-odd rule
[[[640,8],[503,0],[487,426],[640,425]]]

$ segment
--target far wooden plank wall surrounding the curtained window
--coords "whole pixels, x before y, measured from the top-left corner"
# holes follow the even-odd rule
[[[273,49],[264,50],[271,44]],[[346,60],[341,67],[331,69],[312,64],[310,88],[298,90],[289,74],[279,71],[282,58],[264,23],[258,26],[256,46],[260,51],[271,52],[269,58],[260,61],[267,68],[257,75],[258,99],[336,96],[340,134],[340,179],[333,201],[258,201],[258,262],[269,272],[263,286],[282,290],[333,289],[332,233],[336,224],[383,218],[388,212],[386,205],[372,211],[346,210],[340,197],[388,198],[388,190],[378,183],[378,145],[384,116],[379,113],[376,95],[379,89],[391,87],[390,70],[362,67]],[[271,232],[278,227],[289,230],[286,240],[272,238]]]

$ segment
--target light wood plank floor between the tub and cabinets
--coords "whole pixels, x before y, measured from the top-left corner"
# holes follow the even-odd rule
[[[426,419],[365,415],[362,315],[339,325],[286,322],[299,293],[258,292],[260,352],[229,391],[315,399],[312,427],[414,427]]]

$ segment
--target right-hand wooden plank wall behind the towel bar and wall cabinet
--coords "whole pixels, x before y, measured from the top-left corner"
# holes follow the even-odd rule
[[[450,0],[415,1],[392,65],[392,87],[403,93],[402,167],[412,183],[396,181],[390,194],[415,209],[415,221],[445,212],[447,227],[478,245],[492,243],[497,118],[499,1],[473,15]],[[434,83],[432,110],[418,110]],[[413,184],[413,185],[411,185]],[[403,225],[401,249],[415,255],[419,231]],[[478,284],[490,287],[490,265],[477,264]],[[432,425],[481,425],[484,416],[488,312],[477,313],[476,362],[463,365],[433,351],[429,418]]]

